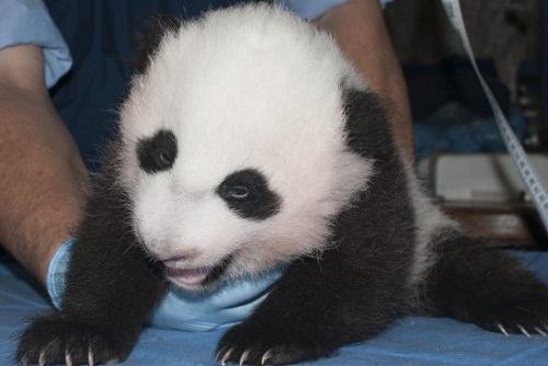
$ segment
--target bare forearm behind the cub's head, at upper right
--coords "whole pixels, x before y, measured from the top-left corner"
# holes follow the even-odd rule
[[[396,139],[413,160],[411,108],[400,64],[376,0],[350,0],[333,7],[315,23],[331,32],[372,90],[389,101]]]

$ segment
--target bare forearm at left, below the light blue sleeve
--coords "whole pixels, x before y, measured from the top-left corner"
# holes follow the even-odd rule
[[[0,66],[0,243],[44,283],[88,178],[43,84],[42,49],[2,49]]]

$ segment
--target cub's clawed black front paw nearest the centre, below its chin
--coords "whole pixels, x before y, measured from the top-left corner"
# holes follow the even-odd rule
[[[219,341],[215,361],[221,365],[287,365],[329,356],[331,347],[274,324],[244,322]]]

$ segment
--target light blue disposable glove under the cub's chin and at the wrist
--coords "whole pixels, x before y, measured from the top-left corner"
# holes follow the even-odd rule
[[[47,273],[47,291],[57,309],[62,306],[65,275],[75,238],[67,239],[57,250]],[[149,325],[184,331],[212,331],[231,327],[261,304],[271,285],[282,274],[275,268],[256,278],[242,278],[226,284],[207,295],[193,295],[172,288],[149,319]]]

